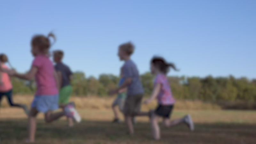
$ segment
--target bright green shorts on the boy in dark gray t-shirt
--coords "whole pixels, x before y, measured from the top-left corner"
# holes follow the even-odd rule
[[[67,104],[72,93],[72,86],[67,85],[60,89],[59,104]]]

